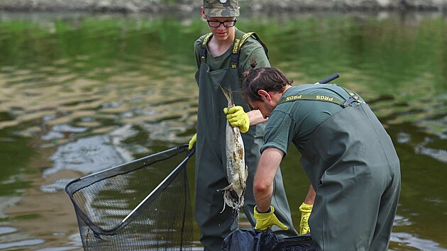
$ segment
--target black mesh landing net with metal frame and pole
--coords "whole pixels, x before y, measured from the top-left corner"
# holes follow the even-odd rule
[[[84,250],[192,250],[193,153],[174,147],[67,184]]]

